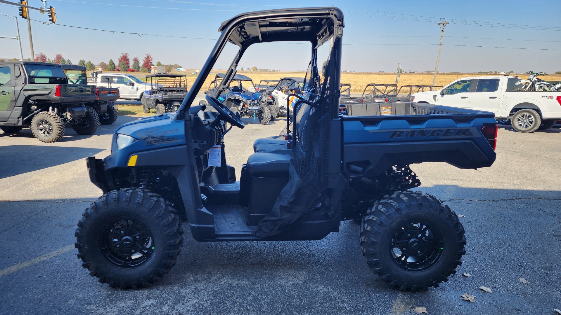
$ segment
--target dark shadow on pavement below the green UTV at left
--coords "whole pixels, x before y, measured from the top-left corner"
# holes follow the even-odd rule
[[[0,178],[11,177],[84,159],[103,150],[104,149],[94,149],[91,147],[4,146],[2,150],[0,150],[0,161],[2,161]]]

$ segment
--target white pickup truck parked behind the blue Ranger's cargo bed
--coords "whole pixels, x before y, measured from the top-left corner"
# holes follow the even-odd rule
[[[517,76],[467,77],[437,91],[411,95],[415,103],[429,103],[495,113],[509,119],[518,132],[549,129],[561,119],[561,92],[512,91]]]

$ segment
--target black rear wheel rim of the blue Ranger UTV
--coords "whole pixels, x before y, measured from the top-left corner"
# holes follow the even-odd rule
[[[442,234],[427,221],[404,221],[389,245],[393,261],[408,271],[427,270],[438,262],[444,251]]]

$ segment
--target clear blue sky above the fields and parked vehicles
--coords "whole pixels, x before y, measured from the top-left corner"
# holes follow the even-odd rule
[[[141,37],[62,25],[217,39],[220,23],[238,13],[297,6],[288,3],[279,6],[279,1],[265,0],[209,1],[48,0],[48,6],[56,7],[58,24],[61,25],[32,21],[35,53],[44,52],[49,58],[61,53],[74,63],[79,59],[94,63],[107,63],[110,58],[116,61],[122,52],[140,58],[145,53],[151,53],[154,62],[200,68],[214,45],[213,40]],[[29,5],[39,7],[42,2],[29,0]],[[345,15],[343,70],[395,71],[398,62],[405,71],[434,70],[440,36],[435,22],[439,18],[447,18],[451,21],[444,31],[445,45],[440,55],[439,71],[561,71],[559,6],[549,4],[548,9],[547,3],[543,6],[528,5],[528,1],[489,0],[305,2],[306,7],[333,5],[341,8]],[[16,7],[4,4],[0,4],[0,13],[18,15]],[[47,15],[38,11],[31,11],[31,18],[48,21]],[[19,25],[24,58],[27,58],[30,52],[26,21],[19,18]],[[15,24],[11,18],[0,16],[0,35],[15,35]],[[240,66],[303,70],[307,61],[302,54],[307,55],[307,52],[307,45],[255,45],[244,55]],[[18,56],[16,40],[0,39],[1,58]],[[226,61],[217,64],[217,68],[226,66]]]

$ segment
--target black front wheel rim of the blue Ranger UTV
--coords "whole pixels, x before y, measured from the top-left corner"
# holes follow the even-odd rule
[[[146,263],[154,251],[154,239],[146,225],[137,220],[114,220],[99,234],[100,250],[109,262],[121,268]]]

